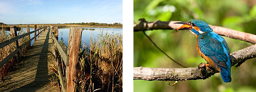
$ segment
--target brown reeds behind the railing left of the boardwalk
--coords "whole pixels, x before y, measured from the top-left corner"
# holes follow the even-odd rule
[[[19,31],[18,35],[25,34],[25,31],[21,30]],[[5,29],[0,30],[0,42],[4,42],[8,39],[14,38],[14,34],[6,33]],[[23,37],[18,40],[19,46],[23,45],[25,42],[29,41],[28,37]],[[20,57],[26,52],[27,49],[29,49],[30,45],[25,46],[21,51],[19,51]],[[11,54],[16,49],[15,42],[10,43],[9,45],[3,47],[0,49],[0,61],[5,59],[9,54]],[[17,55],[15,55],[13,58],[11,58],[3,67],[0,69],[0,79],[1,82],[5,81],[5,76],[14,68],[14,65],[16,63],[21,62],[21,58],[17,58]]]

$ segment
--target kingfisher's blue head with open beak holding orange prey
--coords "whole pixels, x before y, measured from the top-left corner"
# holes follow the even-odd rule
[[[204,21],[194,19],[190,22],[176,22],[183,24],[177,30],[190,30],[192,34],[200,35],[212,31],[211,27]]]

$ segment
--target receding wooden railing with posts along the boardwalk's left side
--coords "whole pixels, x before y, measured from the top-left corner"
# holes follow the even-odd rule
[[[28,30],[28,31],[27,31],[26,34],[17,35],[17,30],[15,29],[15,26],[14,26],[14,28],[11,29],[11,31],[14,30],[14,35],[15,35],[15,37],[14,37],[14,38],[11,38],[11,39],[8,39],[7,41],[1,42],[1,43],[0,43],[0,49],[1,49],[2,47],[5,47],[6,45],[9,45],[10,43],[13,43],[14,41],[15,41],[17,47],[16,47],[16,49],[15,49],[11,54],[9,54],[7,57],[5,57],[5,59],[3,59],[3,60],[0,62],[0,68],[1,68],[3,65],[5,65],[5,63],[7,63],[11,58],[13,58],[15,54],[17,54],[17,55],[18,55],[18,58],[19,58],[19,51],[21,51],[21,50],[23,49],[23,47],[25,47],[27,44],[29,44],[33,39],[35,39],[35,41],[36,41],[36,37],[37,37],[40,33],[42,33],[42,31],[44,31],[45,28],[46,28],[46,27],[41,27],[40,29],[37,29],[37,30],[34,30],[34,31],[29,32],[29,30],[28,30],[29,27],[27,27],[27,30]],[[35,29],[36,29],[36,28],[35,28]],[[42,30],[42,29],[44,29],[44,30]],[[36,31],[40,31],[40,32],[38,32],[38,34],[36,34]],[[32,33],[35,33],[36,35],[35,35],[33,38],[30,38],[29,41],[27,41],[27,42],[24,43],[23,45],[21,45],[21,46],[18,45],[18,39],[23,38],[23,37],[26,37],[27,35],[30,35],[30,34],[32,34]],[[13,34],[13,33],[11,33],[11,34]]]

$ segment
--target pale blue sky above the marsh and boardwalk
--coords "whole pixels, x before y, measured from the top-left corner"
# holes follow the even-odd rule
[[[0,0],[0,22],[123,23],[122,0]]]

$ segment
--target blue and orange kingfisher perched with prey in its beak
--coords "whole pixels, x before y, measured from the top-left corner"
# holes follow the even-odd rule
[[[225,39],[214,33],[206,22],[198,19],[176,23],[183,24],[177,31],[189,30],[196,36],[196,49],[200,57],[207,61],[207,68],[214,67],[220,71],[224,82],[231,82],[230,51]]]

